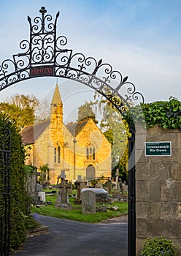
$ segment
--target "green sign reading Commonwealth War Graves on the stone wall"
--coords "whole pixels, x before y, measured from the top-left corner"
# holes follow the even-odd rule
[[[145,157],[159,157],[171,155],[171,141],[145,142]]]

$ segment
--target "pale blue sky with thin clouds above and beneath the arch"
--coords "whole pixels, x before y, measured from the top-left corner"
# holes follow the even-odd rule
[[[19,53],[19,43],[29,37],[27,15],[47,13],[58,18],[59,35],[68,47],[85,56],[103,59],[135,84],[145,102],[181,100],[181,1],[180,0],[0,0],[0,63]],[[36,78],[0,92],[51,97],[56,78]],[[69,112],[93,97],[85,86],[58,79]],[[67,107],[69,106],[69,108]]]

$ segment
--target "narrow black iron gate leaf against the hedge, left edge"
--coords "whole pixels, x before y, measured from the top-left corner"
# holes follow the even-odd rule
[[[0,246],[1,256],[10,255],[10,132],[3,127],[0,143]]]

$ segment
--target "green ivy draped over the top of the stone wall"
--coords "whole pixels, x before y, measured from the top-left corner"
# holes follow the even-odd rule
[[[124,118],[129,124],[141,122],[145,128],[158,124],[163,129],[181,130],[181,102],[171,98],[169,101],[153,102],[130,108]]]

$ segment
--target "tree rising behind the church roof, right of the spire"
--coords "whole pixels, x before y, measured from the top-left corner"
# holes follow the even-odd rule
[[[86,101],[84,105],[80,106],[78,108],[77,121],[85,121],[88,120],[88,118],[91,118],[95,124],[98,124],[98,121],[96,120],[96,114],[93,112],[93,105],[93,102]]]

